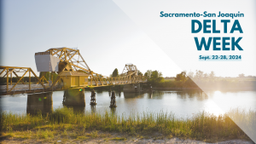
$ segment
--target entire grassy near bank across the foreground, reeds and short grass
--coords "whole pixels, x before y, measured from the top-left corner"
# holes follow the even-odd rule
[[[228,114],[232,115],[229,117]],[[106,111],[74,113],[73,109],[63,107],[42,115],[15,114],[1,112],[1,137],[20,140],[55,141],[106,138],[106,140],[125,141],[123,137],[112,137],[110,133],[140,135],[154,139],[179,137],[199,141],[225,141],[231,139],[250,140],[234,123],[246,122],[246,126],[255,124],[256,112],[242,112],[238,109],[220,116],[199,112],[193,118],[178,118],[172,112],[132,113],[129,116],[117,116]],[[233,118],[233,120],[231,120]],[[252,129],[253,134],[255,130]]]

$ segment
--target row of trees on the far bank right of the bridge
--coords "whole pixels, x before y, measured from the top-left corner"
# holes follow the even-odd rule
[[[149,73],[149,74],[148,74]],[[145,72],[145,76],[148,78],[148,83],[152,84],[157,88],[195,88],[198,89],[198,85],[195,83],[201,84],[201,86],[205,88],[211,89],[241,89],[241,88],[252,88],[254,86],[255,81],[248,80],[241,84],[239,78],[216,78],[215,72],[202,72],[200,70],[196,70],[194,72],[181,72],[178,73],[174,80],[154,80],[153,72],[148,70]],[[242,77],[242,75],[241,75]]]

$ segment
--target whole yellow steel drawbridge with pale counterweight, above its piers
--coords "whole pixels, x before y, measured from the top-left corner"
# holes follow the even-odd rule
[[[138,74],[137,66],[126,64],[119,77],[107,77],[93,72],[85,62],[79,49],[54,48],[35,53],[38,72],[44,75],[38,78],[30,67],[0,66],[0,76],[6,82],[0,86],[0,95],[34,94],[47,91],[84,89],[103,86],[125,85],[124,89],[134,89],[147,79]],[[17,73],[21,73],[19,76]],[[57,73],[57,78],[51,83],[44,77],[46,72]],[[22,78],[28,73],[28,82]],[[13,83],[13,75],[16,82]],[[32,84],[32,76],[37,84]],[[46,84],[44,83],[46,82]]]

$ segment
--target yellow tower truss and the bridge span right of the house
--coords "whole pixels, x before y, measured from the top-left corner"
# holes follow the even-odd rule
[[[146,78],[142,75],[137,75],[137,68],[130,71],[127,70],[126,73],[122,73],[120,77],[107,77],[102,76],[102,74],[93,72],[90,67],[85,62],[82,55],[80,55],[79,49],[70,48],[55,48],[48,49],[45,52],[49,52],[50,55],[55,56],[60,59],[59,72],[84,72],[90,75],[90,87],[100,87],[115,84],[136,84],[146,82]],[[128,65],[125,65],[127,67]],[[52,86],[60,80],[57,78]]]

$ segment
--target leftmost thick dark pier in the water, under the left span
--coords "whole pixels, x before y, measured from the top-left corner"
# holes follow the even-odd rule
[[[26,113],[37,114],[41,111],[42,114],[52,112],[52,92],[42,94],[27,95]]]

